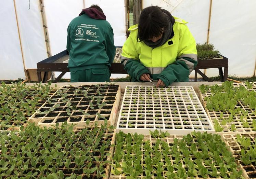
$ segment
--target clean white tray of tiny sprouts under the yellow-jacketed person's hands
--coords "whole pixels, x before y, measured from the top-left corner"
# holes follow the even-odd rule
[[[192,86],[126,86],[117,132],[149,134],[155,129],[176,135],[215,133]]]

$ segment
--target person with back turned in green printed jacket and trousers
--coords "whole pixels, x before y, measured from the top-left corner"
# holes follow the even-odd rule
[[[98,5],[83,9],[67,28],[71,82],[110,81],[116,47],[113,29]]]

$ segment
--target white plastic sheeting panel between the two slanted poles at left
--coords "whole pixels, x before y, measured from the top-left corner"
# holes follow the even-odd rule
[[[25,66],[37,68],[39,61],[48,58],[39,1],[15,2]]]

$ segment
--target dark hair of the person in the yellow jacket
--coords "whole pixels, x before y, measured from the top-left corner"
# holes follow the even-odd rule
[[[165,28],[168,23],[168,16],[161,11],[160,7],[145,8],[141,11],[139,18],[138,38],[144,41],[162,35],[162,28]]]

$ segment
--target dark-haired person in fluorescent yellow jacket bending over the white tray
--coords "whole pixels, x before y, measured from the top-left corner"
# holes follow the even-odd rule
[[[188,82],[197,65],[196,42],[187,22],[158,6],[142,10],[139,24],[129,28],[121,63],[132,81],[157,80],[158,86]]]

